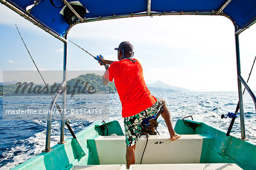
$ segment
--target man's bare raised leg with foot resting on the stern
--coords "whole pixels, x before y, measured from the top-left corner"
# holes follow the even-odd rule
[[[164,118],[164,121],[166,122],[168,131],[171,136],[171,140],[174,141],[176,139],[180,138],[180,135],[177,135],[176,132],[174,131],[174,128],[172,127],[172,121],[171,121],[171,113],[169,108],[166,105],[166,101],[163,101],[163,112],[162,112],[162,117]]]

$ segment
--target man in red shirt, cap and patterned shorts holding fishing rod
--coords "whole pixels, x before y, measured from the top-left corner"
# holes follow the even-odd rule
[[[115,83],[117,92],[122,103],[122,117],[125,119],[126,136],[126,162],[129,168],[135,163],[135,146],[141,137],[141,123],[144,119],[158,113],[163,108],[162,117],[166,122],[170,139],[180,138],[172,127],[170,111],[166,102],[161,98],[151,95],[148,90],[141,63],[133,57],[133,45],[129,42],[122,42],[118,48],[118,61],[104,60],[106,72],[102,76],[102,83],[107,85],[109,81]]]

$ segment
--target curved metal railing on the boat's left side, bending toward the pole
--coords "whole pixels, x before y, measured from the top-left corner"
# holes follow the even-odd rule
[[[47,131],[46,131],[46,149],[43,150],[43,152],[49,152],[52,149],[50,148],[50,140],[51,140],[51,126],[52,126],[52,110],[53,106],[57,101],[57,98],[60,96],[60,94],[63,92],[63,89],[65,88],[67,84],[67,81],[64,80],[61,85],[59,86],[59,89],[56,91],[55,96],[52,98],[52,101],[49,105],[49,110],[47,114]],[[61,112],[61,110],[59,110]],[[63,114],[63,113],[61,113]]]

